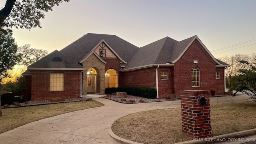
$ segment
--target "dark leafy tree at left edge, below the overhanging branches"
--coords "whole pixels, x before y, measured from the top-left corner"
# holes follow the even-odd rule
[[[11,33],[0,32],[0,42],[0,80],[2,80],[8,76],[7,70],[12,69],[20,61],[20,57],[16,54],[18,46]]]

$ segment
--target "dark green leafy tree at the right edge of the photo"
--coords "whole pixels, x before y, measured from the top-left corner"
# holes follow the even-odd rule
[[[255,59],[256,60],[256,59]],[[242,92],[256,100],[256,63],[248,61],[239,61],[243,67],[239,70],[239,74],[234,76],[230,91]]]

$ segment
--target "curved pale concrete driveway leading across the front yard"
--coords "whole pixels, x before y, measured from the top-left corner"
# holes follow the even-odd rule
[[[210,104],[250,101],[249,96],[210,98]],[[122,104],[94,98],[105,106],[45,118],[0,134],[0,144],[120,144],[108,131],[115,120],[134,112],[179,108],[180,100]]]

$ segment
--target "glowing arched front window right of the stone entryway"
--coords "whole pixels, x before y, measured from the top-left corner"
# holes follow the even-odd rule
[[[108,69],[105,73],[105,88],[118,87],[118,74],[114,69]]]

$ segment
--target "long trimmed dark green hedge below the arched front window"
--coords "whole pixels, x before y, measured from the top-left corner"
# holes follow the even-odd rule
[[[140,96],[143,98],[156,98],[156,89],[145,87],[117,87],[106,88],[105,94],[112,94],[115,92],[126,92],[128,95]]]

